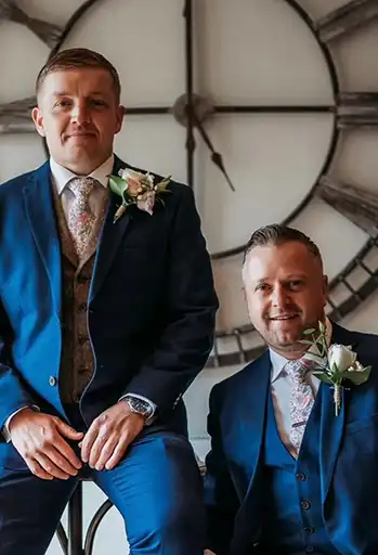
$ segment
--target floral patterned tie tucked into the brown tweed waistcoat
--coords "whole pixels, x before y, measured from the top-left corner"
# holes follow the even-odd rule
[[[75,199],[69,207],[67,224],[79,260],[82,259],[93,232],[95,215],[89,205],[89,195],[96,182],[93,178],[75,178],[69,181]]]

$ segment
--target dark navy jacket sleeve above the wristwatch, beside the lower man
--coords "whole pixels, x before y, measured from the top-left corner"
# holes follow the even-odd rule
[[[218,309],[194,195],[188,186],[181,186],[180,195],[169,238],[167,325],[125,391],[151,400],[160,415],[175,406],[205,366]]]

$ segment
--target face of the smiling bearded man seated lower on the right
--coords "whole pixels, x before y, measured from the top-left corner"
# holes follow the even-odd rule
[[[286,358],[305,347],[304,330],[324,320],[327,278],[318,257],[299,242],[252,248],[244,268],[249,317],[266,344]]]

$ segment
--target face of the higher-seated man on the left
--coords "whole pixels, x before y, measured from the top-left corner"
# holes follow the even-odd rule
[[[55,162],[88,175],[110,156],[123,108],[105,69],[74,68],[45,77],[32,119]]]

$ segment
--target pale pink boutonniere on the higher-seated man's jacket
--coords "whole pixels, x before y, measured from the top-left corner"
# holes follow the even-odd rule
[[[141,173],[125,168],[119,170],[119,176],[108,176],[108,178],[110,190],[121,197],[121,205],[114,216],[113,223],[116,223],[123,216],[127,208],[132,205],[136,205],[140,210],[152,216],[155,203],[159,202],[164,205],[161,195],[164,193],[171,193],[171,191],[167,190],[171,176],[155,184],[155,178],[151,173]]]

